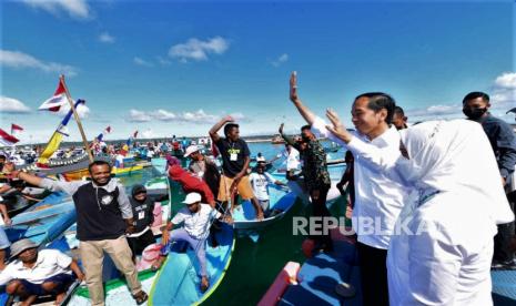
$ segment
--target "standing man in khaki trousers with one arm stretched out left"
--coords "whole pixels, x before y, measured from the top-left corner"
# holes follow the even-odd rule
[[[118,180],[111,178],[111,165],[108,162],[93,161],[88,170],[91,182],[52,181],[19,171],[13,175],[32,185],[72,195],[77,211],[77,238],[80,241],[79,251],[91,304],[104,305],[102,262],[105,252],[124,274],[140,305],[149,297],[138,279],[138,271],[125,238],[125,233],[133,233],[135,225],[125,188]]]

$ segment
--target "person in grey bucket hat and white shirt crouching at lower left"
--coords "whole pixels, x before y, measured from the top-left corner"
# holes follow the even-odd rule
[[[30,239],[20,239],[11,245],[13,259],[0,273],[0,285],[6,292],[20,297],[22,305],[31,305],[38,296],[54,295],[59,305],[68,287],[84,274],[74,259],[58,249],[42,249]]]

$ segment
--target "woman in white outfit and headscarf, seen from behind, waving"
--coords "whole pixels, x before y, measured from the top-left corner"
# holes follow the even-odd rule
[[[490,262],[496,224],[510,222],[493,150],[482,126],[431,121],[401,131],[404,156],[353,137],[333,111],[328,129],[372,167],[403,180],[407,198],[388,246],[389,304],[493,305]]]

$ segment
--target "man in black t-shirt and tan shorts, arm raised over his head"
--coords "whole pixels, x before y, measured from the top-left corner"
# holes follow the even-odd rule
[[[225,137],[221,137],[216,132],[224,124]],[[243,200],[251,200],[256,218],[262,220],[263,211],[254,196],[247,176],[251,153],[247,143],[240,137],[239,124],[234,123],[233,118],[225,116],[213,125],[210,130],[210,136],[222,157],[222,176],[217,200],[227,202],[231,198],[231,211],[233,212],[234,195],[237,192]]]

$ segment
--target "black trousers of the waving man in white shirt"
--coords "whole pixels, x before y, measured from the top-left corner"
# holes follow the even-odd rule
[[[387,249],[356,243],[364,306],[388,306]],[[395,305],[393,305],[395,306]]]

